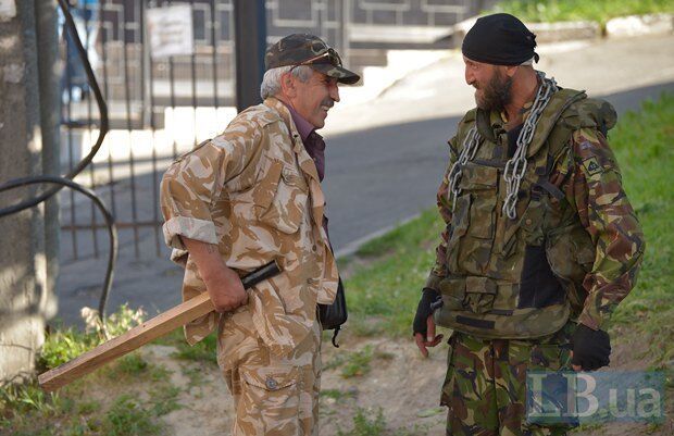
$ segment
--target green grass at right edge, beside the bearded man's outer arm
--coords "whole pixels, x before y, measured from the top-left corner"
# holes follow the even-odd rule
[[[674,94],[646,101],[627,113],[611,133],[625,190],[646,234],[646,254],[636,288],[619,306],[613,321],[645,333],[649,360],[666,365],[674,359]]]

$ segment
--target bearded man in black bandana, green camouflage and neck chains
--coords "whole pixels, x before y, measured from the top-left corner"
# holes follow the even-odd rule
[[[525,416],[526,373],[609,364],[611,313],[645,242],[607,130],[615,112],[533,68],[536,36],[484,16],[462,46],[477,108],[449,141],[447,223],[413,331],[424,356],[453,329],[448,435],[564,434]]]

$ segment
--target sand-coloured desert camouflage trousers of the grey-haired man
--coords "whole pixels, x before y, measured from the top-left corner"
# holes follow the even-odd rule
[[[234,326],[238,331],[235,336],[251,326],[248,323]],[[225,331],[227,328],[232,326]],[[221,327],[221,341],[222,332]],[[297,352],[287,358],[271,353],[254,331],[247,333],[250,336],[245,340],[219,346],[219,363],[236,411],[232,435],[317,436],[321,389],[319,322],[297,347]],[[223,365],[225,362],[227,364]]]

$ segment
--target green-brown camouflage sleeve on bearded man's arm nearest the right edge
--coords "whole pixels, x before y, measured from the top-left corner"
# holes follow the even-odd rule
[[[582,128],[573,134],[572,149],[567,198],[596,248],[592,270],[583,282],[588,297],[578,321],[607,329],[611,313],[636,285],[644,233],[607,139],[594,128]]]

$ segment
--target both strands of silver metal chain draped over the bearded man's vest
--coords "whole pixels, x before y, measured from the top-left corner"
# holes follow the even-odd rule
[[[538,123],[538,119],[540,119],[540,114],[544,109],[550,101],[550,98],[558,90],[554,78],[546,78],[546,74],[542,72],[536,73],[540,78],[541,85],[538,87],[531,113],[524,122],[524,126],[517,136],[517,148],[515,150],[515,154],[506,164],[506,171],[503,173],[503,179],[506,180],[507,187],[506,201],[503,202],[503,213],[506,213],[511,220],[517,217],[517,211],[515,209],[517,203],[517,191],[520,190],[522,178],[524,178],[524,173],[526,172],[526,154],[529,142],[534,137],[534,132],[536,130],[536,124]],[[461,188],[459,187],[462,175],[461,170],[463,169],[463,165],[475,158],[480,142],[482,136],[477,132],[477,125],[475,125],[469,130],[469,134],[463,140],[459,158],[449,170],[448,182],[449,189],[452,194],[452,211],[457,205],[457,198],[461,194]]]

